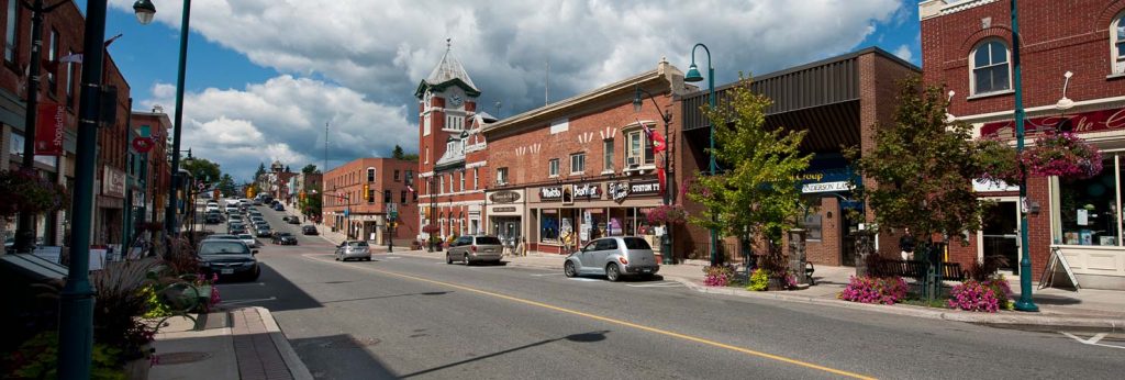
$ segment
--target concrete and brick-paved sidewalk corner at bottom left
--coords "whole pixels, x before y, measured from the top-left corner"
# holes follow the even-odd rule
[[[171,318],[148,379],[313,379],[266,308]]]

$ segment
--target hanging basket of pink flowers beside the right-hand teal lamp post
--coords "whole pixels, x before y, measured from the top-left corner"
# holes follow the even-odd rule
[[[1101,152],[1072,133],[1043,135],[1019,159],[1035,177],[1081,180],[1101,172]]]

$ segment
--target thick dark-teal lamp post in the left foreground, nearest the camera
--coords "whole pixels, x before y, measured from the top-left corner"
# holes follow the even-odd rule
[[[93,218],[93,172],[97,161],[98,105],[101,103],[105,65],[106,0],[86,3],[86,30],[82,45],[82,93],[79,101],[78,146],[71,212],[71,260],[66,284],[60,295],[58,378],[89,379],[93,356],[93,288],[90,286],[90,226]],[[32,110],[28,110],[32,111]],[[30,126],[29,126],[30,127]]]

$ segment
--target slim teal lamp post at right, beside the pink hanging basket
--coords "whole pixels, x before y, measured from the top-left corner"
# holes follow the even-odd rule
[[[1011,80],[1016,92],[1015,121],[1016,121],[1016,154],[1024,152],[1024,89],[1020,83],[1019,67],[1019,22],[1016,17],[1016,0],[1011,0]],[[1019,200],[1027,201],[1027,175],[1019,178]],[[1028,246],[1027,237],[1027,212],[1019,212],[1019,251],[1023,256],[1019,260],[1019,300],[1016,301],[1016,310],[1038,311],[1032,300],[1032,250]]]

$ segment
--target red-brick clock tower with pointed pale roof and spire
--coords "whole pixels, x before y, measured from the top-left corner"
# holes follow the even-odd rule
[[[453,56],[447,38],[446,54],[414,91],[418,99],[418,183],[414,189],[424,210],[420,218],[422,226],[442,225],[442,230],[433,235],[448,236],[464,229],[464,224],[454,223],[453,218],[460,219],[465,212],[447,210],[449,207],[435,211],[432,206],[446,206],[434,203],[433,197],[454,192],[453,175],[465,175],[462,135],[471,128],[479,96],[480,90]]]

